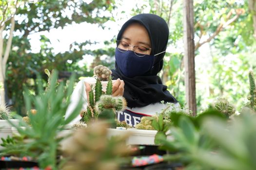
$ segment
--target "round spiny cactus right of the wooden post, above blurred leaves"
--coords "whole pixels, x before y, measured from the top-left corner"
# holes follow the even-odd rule
[[[236,112],[235,106],[230,104],[225,98],[219,98],[214,104],[214,108],[223,113],[227,118]]]

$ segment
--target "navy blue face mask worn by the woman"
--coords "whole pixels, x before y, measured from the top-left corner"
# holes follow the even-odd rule
[[[133,51],[121,52],[116,48],[116,62],[118,68],[126,77],[140,76],[149,71],[154,65],[155,56],[137,56]]]

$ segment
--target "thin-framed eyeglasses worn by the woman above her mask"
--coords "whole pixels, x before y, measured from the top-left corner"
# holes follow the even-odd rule
[[[128,44],[125,41],[122,40],[117,40],[117,47],[118,47],[118,51],[120,52],[127,52],[130,50],[130,47],[133,47],[133,52],[138,56],[138,57],[144,57],[147,54],[148,50],[151,50],[151,48],[146,48],[144,46],[133,46]],[[165,51],[159,52],[157,54],[155,54],[154,56],[161,54]]]

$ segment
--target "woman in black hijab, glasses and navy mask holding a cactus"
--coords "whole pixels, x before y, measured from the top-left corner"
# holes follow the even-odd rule
[[[166,108],[161,101],[179,106],[157,75],[163,67],[168,37],[167,23],[154,14],[139,14],[122,26],[117,37],[116,69],[112,70],[113,79],[117,79],[113,96],[123,95],[128,108],[118,113],[118,120],[135,127],[141,117]],[[88,94],[90,85],[84,84]]]

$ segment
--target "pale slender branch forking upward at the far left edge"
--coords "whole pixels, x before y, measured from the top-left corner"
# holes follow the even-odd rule
[[[4,52],[4,56],[3,56],[3,61],[2,61],[2,69],[3,69],[3,78],[5,79],[5,67],[6,67],[6,63],[11,51],[11,46],[12,46],[12,39],[13,39],[13,31],[14,31],[14,26],[15,26],[15,20],[14,20],[14,16],[11,19],[11,29],[10,29],[10,35],[7,41],[7,45],[6,45],[6,49]]]

